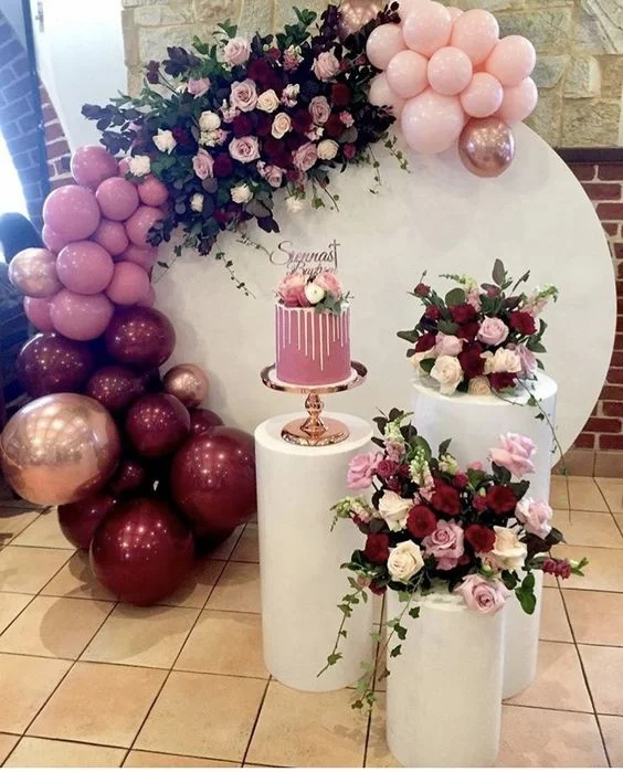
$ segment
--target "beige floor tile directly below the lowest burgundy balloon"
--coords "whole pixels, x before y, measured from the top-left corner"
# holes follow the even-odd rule
[[[118,605],[81,659],[170,668],[198,616],[198,609]]]

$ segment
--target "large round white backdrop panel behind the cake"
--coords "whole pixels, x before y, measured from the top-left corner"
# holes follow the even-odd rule
[[[490,278],[494,260],[529,287],[551,283],[560,300],[545,314],[547,372],[558,382],[558,427],[569,447],[599,396],[610,357],[616,299],[608,243],[593,207],[564,162],[529,128],[516,129],[517,156],[498,179],[468,173],[456,151],[411,155],[411,173],[379,149],[382,186],[369,167],[334,175],[340,211],[277,210],[282,232],[253,228],[257,251],[226,234],[219,242],[255,298],[236,290],[222,263],[186,250],[156,286],[157,307],[176,325],[170,364],[193,361],[211,376],[209,406],[228,423],[252,431],[276,413],[303,408],[303,399],[272,392],[260,370],[274,361],[274,289],[285,273],[284,250],[321,252],[337,242],[338,273],[352,299],[352,357],[369,369],[367,383],[327,398],[330,410],[370,419],[377,409],[408,409],[411,366],[395,337],[421,316],[409,296],[423,271]],[[284,244],[285,242],[285,244]],[[282,248],[279,248],[282,244]],[[291,246],[292,245],[292,246]],[[171,250],[160,257],[170,262]],[[450,285],[448,285],[450,286]],[[503,427],[500,427],[503,429]]]

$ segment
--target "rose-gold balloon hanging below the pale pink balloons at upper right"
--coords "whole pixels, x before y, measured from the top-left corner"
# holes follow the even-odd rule
[[[510,126],[492,116],[469,120],[458,139],[463,166],[477,177],[499,177],[515,158]]]

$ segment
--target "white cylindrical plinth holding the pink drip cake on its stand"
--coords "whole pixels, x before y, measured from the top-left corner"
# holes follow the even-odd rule
[[[359,604],[341,639],[342,659],[317,678],[330,654],[349,591],[340,565],[363,547],[363,537],[341,520],[331,532],[330,508],[348,495],[350,459],[370,450],[372,429],[352,415],[329,414],[350,436],[328,447],[282,440],[297,413],[270,419],[255,430],[257,524],[264,662],[282,684],[302,691],[332,691],[360,677],[372,658],[372,603]]]

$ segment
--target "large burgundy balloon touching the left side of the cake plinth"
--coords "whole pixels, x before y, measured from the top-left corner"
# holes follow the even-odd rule
[[[171,466],[175,501],[200,537],[217,537],[256,511],[255,448],[246,432],[217,426],[191,436]]]

